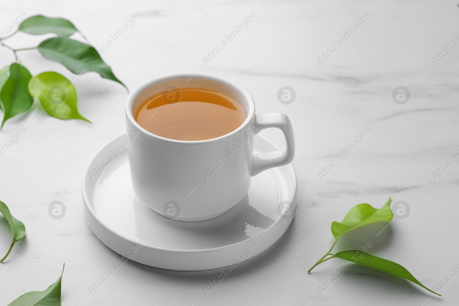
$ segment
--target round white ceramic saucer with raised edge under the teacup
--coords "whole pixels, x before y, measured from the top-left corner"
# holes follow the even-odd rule
[[[134,195],[127,147],[91,179],[88,171],[94,172],[92,167],[99,161],[113,156],[110,150],[125,137],[122,134],[103,147],[83,179],[86,220],[96,236],[120,255],[171,270],[232,269],[273,245],[290,225],[291,217],[281,218],[279,213],[280,203],[293,202],[297,190],[290,164],[256,175],[246,197],[236,206],[221,216],[197,222],[163,217]],[[273,150],[279,148],[263,136],[255,136],[255,153]]]

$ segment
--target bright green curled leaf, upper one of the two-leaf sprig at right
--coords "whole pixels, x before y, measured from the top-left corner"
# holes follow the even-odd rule
[[[354,206],[347,212],[343,221],[331,223],[331,233],[335,236],[335,239],[338,239],[342,235],[346,234],[353,229],[359,228],[361,226],[376,223],[376,222],[389,222],[394,216],[389,204],[391,203],[391,198],[387,200],[386,204],[380,209],[376,209],[373,206],[362,203]]]

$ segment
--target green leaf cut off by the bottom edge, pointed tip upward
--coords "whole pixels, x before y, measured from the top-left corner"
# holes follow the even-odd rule
[[[64,263],[65,267],[65,263]],[[8,306],[60,306],[61,305],[61,281],[62,273],[56,283],[50,285],[44,291],[30,291],[13,300]]]

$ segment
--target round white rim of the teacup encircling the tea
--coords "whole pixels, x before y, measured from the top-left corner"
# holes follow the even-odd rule
[[[204,140],[178,140],[178,139],[165,138],[165,137],[158,136],[156,134],[153,134],[153,133],[147,131],[145,128],[142,128],[140,126],[140,124],[137,123],[137,121],[135,121],[134,115],[132,113],[132,104],[134,103],[135,98],[143,90],[145,90],[147,87],[151,86],[154,83],[158,83],[158,82],[161,82],[161,81],[164,81],[164,80],[169,80],[169,79],[174,79],[174,78],[194,78],[194,77],[207,78],[207,79],[211,79],[211,80],[214,80],[214,81],[218,81],[220,83],[224,83],[225,85],[227,85],[229,87],[233,87],[234,89],[239,91],[244,96],[244,98],[246,99],[246,102],[247,102],[247,105],[248,105],[248,108],[249,108],[248,110],[246,110],[246,111],[248,111],[246,120],[244,120],[244,122],[242,122],[242,124],[238,128],[236,128],[234,131],[231,131],[228,134],[225,134],[223,136],[219,136],[219,137],[216,137],[216,138],[204,139]],[[195,72],[195,73],[192,73],[192,72],[170,73],[170,74],[162,75],[162,76],[160,76],[158,78],[154,78],[154,79],[148,80],[145,83],[142,83],[140,86],[138,86],[136,89],[134,89],[130,93],[130,95],[128,97],[128,100],[127,100],[127,103],[126,103],[126,116],[127,116],[127,118],[130,120],[130,122],[132,124],[134,124],[135,127],[140,128],[142,133],[145,133],[145,134],[147,134],[147,135],[149,135],[149,136],[151,136],[153,138],[161,139],[161,140],[172,142],[172,143],[180,143],[180,144],[203,144],[203,143],[210,143],[210,142],[218,141],[220,139],[231,137],[234,134],[240,133],[241,130],[243,128],[245,128],[246,125],[252,120],[252,117],[254,117],[254,114],[255,114],[255,102],[253,101],[252,95],[250,95],[250,93],[247,91],[247,89],[245,89],[244,87],[242,87],[238,83],[233,82],[233,81],[231,81],[231,80],[229,80],[227,78],[219,77],[219,76],[216,76],[216,75],[213,75],[213,74],[202,73],[202,72],[199,72],[199,73],[197,73],[197,72]]]

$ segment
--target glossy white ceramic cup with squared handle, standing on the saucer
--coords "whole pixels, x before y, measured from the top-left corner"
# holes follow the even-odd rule
[[[133,113],[146,99],[171,87],[208,88],[229,95],[245,108],[246,120],[214,139],[184,141],[152,134]],[[129,144],[129,167],[135,194],[153,211],[179,221],[207,220],[228,211],[246,195],[252,176],[290,163],[295,151],[285,114],[255,115],[255,103],[246,89],[204,73],[169,74],[140,85],[129,95],[126,126],[134,139]],[[264,128],[282,130],[284,150],[253,154],[254,134]]]

